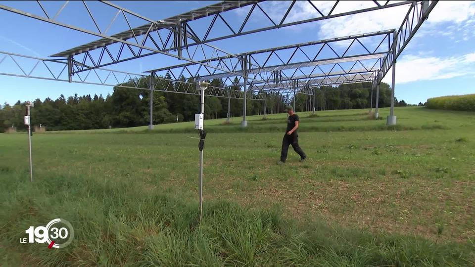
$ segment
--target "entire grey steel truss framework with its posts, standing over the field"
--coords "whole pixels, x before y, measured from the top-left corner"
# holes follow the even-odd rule
[[[296,93],[315,96],[313,88],[318,86],[359,82],[372,82],[378,99],[379,84],[392,68],[391,118],[388,117],[387,123],[395,123],[393,108],[396,59],[428,18],[437,3],[436,0],[374,0],[366,1],[361,6],[346,6],[344,1],[339,0],[334,1],[331,6],[325,6],[319,1],[299,1],[298,4],[305,2],[312,9],[313,12],[307,17],[289,15],[297,8],[296,0],[279,1],[279,4],[285,5],[286,8],[272,10],[273,12],[270,12],[269,8],[266,9],[266,5],[272,7],[268,2],[270,1],[222,1],[163,20],[147,18],[109,1],[63,1],[53,12],[47,8],[46,1],[29,2],[33,10],[0,4],[0,9],[99,38],[94,42],[53,54],[51,57],[56,59],[1,52],[0,64],[11,59],[20,72],[15,74],[7,71],[0,74],[134,89],[142,88],[139,82],[144,81],[151,91],[191,94],[197,94],[195,85],[185,81],[224,79],[223,88],[210,88],[207,94],[243,99],[242,125],[245,126],[246,99],[265,101],[267,92],[293,94],[294,99]],[[230,53],[211,45],[212,42],[243,35],[397,6],[408,6],[408,11],[401,26],[395,30],[244,53]],[[68,8],[74,8],[73,15],[62,16]],[[111,12],[110,20],[103,18],[102,13],[97,11],[98,8],[101,12],[104,9]],[[236,10],[245,16],[236,16]],[[279,12],[282,14],[276,14]],[[249,21],[256,16],[264,16],[267,24],[251,25]],[[82,25],[84,18],[87,18],[93,27]],[[120,22],[122,27],[118,25]],[[218,27],[219,24],[221,28]],[[109,34],[111,31],[118,33]],[[365,44],[364,40],[369,38],[378,39],[378,42]],[[337,51],[337,48],[341,47],[344,49]],[[324,53],[323,50],[330,52]],[[148,75],[105,68],[153,55],[174,58],[178,60],[178,64],[150,70]],[[15,57],[36,60],[37,63],[33,69],[26,70],[15,61]],[[52,71],[53,65],[58,69],[57,73]],[[41,75],[36,74],[39,67],[46,67],[46,71]],[[118,76],[125,78],[119,79]],[[152,99],[150,129],[153,127],[151,104]],[[378,101],[376,112],[378,114]]]

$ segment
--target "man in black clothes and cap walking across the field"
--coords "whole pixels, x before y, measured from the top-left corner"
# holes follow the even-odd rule
[[[297,154],[300,156],[300,162],[303,162],[307,156],[302,151],[302,148],[300,148],[298,145],[298,116],[295,114],[295,112],[293,112],[292,106],[287,106],[285,110],[288,113],[287,130],[285,131],[284,139],[282,139],[281,161],[279,164],[285,163],[289,145],[292,145],[293,150],[295,150],[295,152],[297,152]]]

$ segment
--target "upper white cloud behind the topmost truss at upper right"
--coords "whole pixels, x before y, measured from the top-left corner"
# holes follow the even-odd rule
[[[265,5],[263,2],[261,5]],[[280,21],[289,6],[289,1],[269,1],[266,12],[274,21]],[[312,1],[312,3],[324,14],[328,14],[335,1]],[[373,1],[340,1],[333,14],[350,10],[374,7]],[[295,27],[288,27],[291,31],[298,31],[302,28],[320,26],[318,37],[328,39],[340,36],[368,33],[380,30],[399,28],[409,5],[402,5],[392,8],[375,10],[372,12],[359,13],[349,16],[336,17],[320,21],[319,23],[300,24]],[[246,9],[247,11],[247,9]],[[247,15],[243,8],[236,9],[236,13],[241,16]],[[256,15],[256,14],[253,14]],[[260,19],[267,18],[260,14]],[[307,1],[296,1],[292,10],[288,14],[285,22],[303,20],[319,17],[318,11]],[[449,23],[443,29],[441,23]],[[425,22],[424,30],[416,36],[439,33],[453,38],[453,33],[462,32],[462,38],[468,40],[475,35],[475,1],[439,1]]]

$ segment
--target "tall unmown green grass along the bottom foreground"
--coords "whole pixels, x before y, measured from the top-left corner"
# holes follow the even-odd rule
[[[297,223],[226,201],[206,201],[198,223],[197,203],[133,179],[39,174],[30,183],[24,173],[3,179],[2,266],[462,266],[475,257],[474,244]],[[57,217],[75,228],[69,247],[18,242]]]

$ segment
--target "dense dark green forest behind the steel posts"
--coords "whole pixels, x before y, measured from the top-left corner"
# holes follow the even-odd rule
[[[145,79],[129,81],[124,85],[139,83],[142,88],[147,88]],[[165,83],[167,87],[174,86]],[[212,86],[223,86],[222,80],[211,81]],[[160,89],[160,88],[157,88]],[[232,88],[233,89],[233,88]],[[31,108],[31,123],[33,126],[46,127],[48,131],[57,130],[82,130],[101,128],[120,128],[148,125],[149,98],[147,89],[127,89],[114,87],[112,94],[83,95],[65,97],[60,95],[55,100],[46,98],[36,99],[35,106]],[[373,94],[373,105],[376,101],[376,92]],[[287,104],[292,104],[291,96],[277,93],[267,93],[267,113],[282,113]],[[313,107],[313,97],[297,94],[295,110],[310,111]],[[231,99],[230,114],[232,117],[242,116],[242,99]],[[349,84],[338,87],[320,87],[316,89],[316,109],[352,109],[369,108],[371,102],[370,84]],[[25,130],[23,116],[25,106],[18,100],[14,105],[4,103],[0,107],[0,131],[8,128]],[[401,100],[397,106],[406,106]],[[387,84],[380,86],[380,107],[390,104],[390,89]],[[199,98],[197,95],[153,92],[153,123],[173,123],[178,120],[194,120],[198,113]],[[205,98],[205,119],[226,118],[228,112],[228,98],[207,96]],[[264,112],[264,102],[261,100],[247,100],[246,115],[259,115]]]

